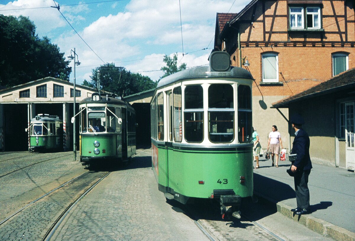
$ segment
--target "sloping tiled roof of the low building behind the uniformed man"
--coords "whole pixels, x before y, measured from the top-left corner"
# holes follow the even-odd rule
[[[355,68],[349,69],[341,74],[335,75],[331,79],[320,83],[299,94],[287,97],[278,102],[272,103],[271,108],[287,107],[289,103],[301,99],[307,99],[315,95],[329,94],[338,90],[355,87]]]

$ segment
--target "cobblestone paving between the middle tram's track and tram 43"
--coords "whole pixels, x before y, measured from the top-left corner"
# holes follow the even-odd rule
[[[209,239],[193,220],[166,203],[158,191],[148,149],[94,187],[51,240]]]

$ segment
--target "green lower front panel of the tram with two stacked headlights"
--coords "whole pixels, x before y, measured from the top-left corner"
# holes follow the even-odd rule
[[[94,141],[100,142],[97,147],[100,150],[98,155],[94,154]],[[81,157],[92,158],[121,158],[122,153],[117,150],[121,143],[120,134],[98,134],[98,135],[81,135]],[[117,148],[116,148],[117,146]],[[105,150],[105,153],[102,151]],[[91,152],[91,153],[89,153]]]

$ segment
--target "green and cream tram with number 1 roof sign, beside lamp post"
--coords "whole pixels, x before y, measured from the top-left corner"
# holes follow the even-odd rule
[[[120,97],[92,94],[80,109],[82,165],[126,162],[136,154],[135,110]],[[78,113],[78,114],[79,114]]]

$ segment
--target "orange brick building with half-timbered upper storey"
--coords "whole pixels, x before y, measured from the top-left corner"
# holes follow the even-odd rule
[[[288,108],[272,103],[355,67],[353,0],[252,0],[239,13],[217,13],[214,50],[248,68],[253,84],[253,125],[267,147],[277,125],[290,147]]]

